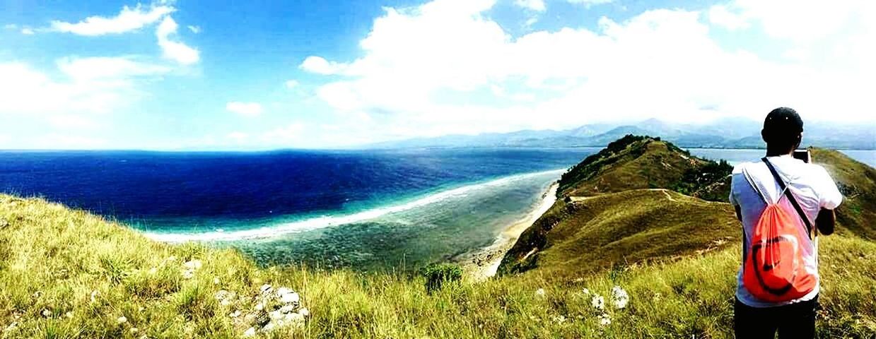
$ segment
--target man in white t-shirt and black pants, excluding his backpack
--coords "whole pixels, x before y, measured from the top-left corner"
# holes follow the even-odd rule
[[[802,268],[814,276],[815,287],[811,292],[793,300],[768,301],[755,297],[753,289],[747,288],[743,282],[746,257],[747,260],[752,259],[754,229],[767,209],[767,201],[776,204],[781,199],[787,200],[783,202],[786,208],[792,205],[792,197],[788,197],[781,188],[783,184],[799,205],[799,208],[788,208],[786,215],[800,220],[801,215],[805,215],[808,220],[801,224],[815,224],[815,228],[823,235],[833,233],[833,209],[843,201],[843,195],[822,166],[792,156],[801,144],[802,131],[803,121],[794,109],[774,109],[767,115],[763,131],[760,132],[767,142],[766,161],[743,163],[733,169],[730,202],[736,208],[744,234],[743,263],[738,272],[736,303],[733,307],[733,327],[737,338],[774,338],[776,332],[780,338],[815,336],[815,308],[819,291],[816,230],[809,232],[802,227],[801,234],[809,233],[809,237],[803,236],[799,244],[804,263]],[[770,165],[774,167],[775,174]],[[783,184],[776,180],[776,175],[784,181]],[[763,270],[768,271],[767,266],[763,264]]]

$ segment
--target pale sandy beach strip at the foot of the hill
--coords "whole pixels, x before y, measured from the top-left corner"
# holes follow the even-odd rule
[[[548,187],[548,191],[541,195],[541,201],[538,206],[523,218],[506,226],[496,237],[493,244],[463,255],[462,258],[456,260],[463,266],[463,272],[465,272],[466,277],[475,282],[480,282],[495,276],[498,266],[502,264],[502,259],[505,258],[505,253],[511,250],[514,244],[517,243],[520,235],[529,229],[541,215],[548,212],[548,209],[554,206],[556,191],[559,187],[560,185],[556,181],[553,182]]]

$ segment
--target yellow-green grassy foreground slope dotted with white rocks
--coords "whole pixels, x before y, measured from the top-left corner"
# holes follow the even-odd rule
[[[200,268],[185,265],[194,260]],[[821,266],[819,336],[876,334],[876,244],[827,237]],[[580,276],[536,271],[445,284],[427,293],[417,276],[258,268],[237,251],[158,244],[85,212],[0,195],[4,338],[241,337],[279,306],[262,297],[264,284],[297,290],[309,315],[259,329],[258,337],[728,338],[737,267],[730,248]],[[613,286],[629,295],[623,309],[612,306]],[[593,293],[604,296],[604,310],[592,306]],[[264,312],[256,308],[261,302]]]

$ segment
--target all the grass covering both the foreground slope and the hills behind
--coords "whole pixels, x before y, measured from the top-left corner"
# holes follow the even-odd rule
[[[625,161],[673,166],[639,155]],[[849,195],[837,235],[820,239],[818,336],[876,337],[876,176],[837,152],[814,155]],[[617,182],[641,174],[614,165],[626,168]],[[431,280],[258,267],[239,251],[159,244],[81,210],[0,194],[0,338],[235,338],[250,328],[269,338],[728,338],[740,260],[729,208],[668,190],[569,197],[520,238],[505,276],[473,283],[453,266],[425,270]],[[530,251],[536,269],[508,269]],[[288,306],[265,284],[300,293],[303,321],[263,330]],[[615,286],[629,304],[594,308],[593,293],[611,300]]]

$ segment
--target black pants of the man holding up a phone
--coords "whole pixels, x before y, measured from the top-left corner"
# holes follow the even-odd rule
[[[733,330],[738,339],[814,338],[818,297],[779,307],[750,307],[739,300],[733,306]]]

